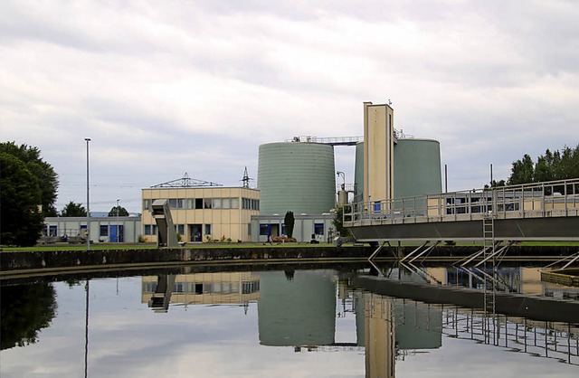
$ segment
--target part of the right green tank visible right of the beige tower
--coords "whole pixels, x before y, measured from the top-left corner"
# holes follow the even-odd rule
[[[394,198],[441,191],[440,143],[432,139],[398,139],[394,145]]]

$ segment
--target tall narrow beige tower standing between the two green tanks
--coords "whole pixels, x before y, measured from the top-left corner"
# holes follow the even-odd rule
[[[394,109],[388,104],[364,103],[364,196],[364,202],[394,198]]]

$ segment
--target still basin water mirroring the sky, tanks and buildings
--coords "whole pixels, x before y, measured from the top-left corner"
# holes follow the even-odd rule
[[[352,288],[370,269],[246,270],[3,282],[0,375],[579,376],[577,324]],[[383,272],[470,288],[484,279],[418,270]],[[576,288],[543,283],[536,272],[504,269],[501,289],[577,300]]]

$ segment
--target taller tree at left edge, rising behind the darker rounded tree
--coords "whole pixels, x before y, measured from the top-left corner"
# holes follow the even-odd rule
[[[28,171],[40,181],[42,213],[43,216],[56,216],[56,196],[58,194],[58,175],[52,165],[43,161],[38,147],[20,145],[14,142],[0,143],[0,151],[20,159]]]

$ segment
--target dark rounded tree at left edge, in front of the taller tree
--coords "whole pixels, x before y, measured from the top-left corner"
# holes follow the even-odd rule
[[[18,157],[0,152],[0,243],[29,247],[43,230],[40,180]]]

